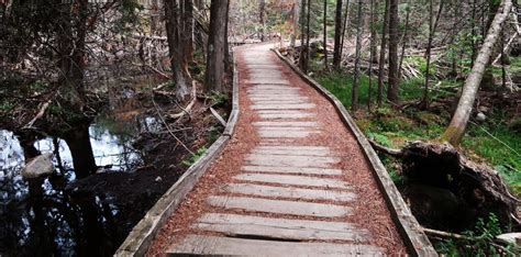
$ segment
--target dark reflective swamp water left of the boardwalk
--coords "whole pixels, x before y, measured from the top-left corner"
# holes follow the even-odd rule
[[[121,124],[98,119],[89,135],[98,172],[126,172],[142,164],[142,154],[131,146],[132,135],[156,131],[153,118]],[[47,137],[33,143],[54,153],[55,172],[25,180],[20,175],[24,149],[11,132],[0,130],[0,256],[109,256],[124,238],[117,220],[121,213],[107,193],[74,193],[65,190],[76,180],[70,150],[65,141]]]

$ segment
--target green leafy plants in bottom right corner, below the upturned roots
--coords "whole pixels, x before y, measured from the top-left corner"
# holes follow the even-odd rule
[[[498,248],[491,244],[501,234],[496,214],[490,213],[487,221],[479,219],[473,231],[462,233],[464,238],[440,242],[435,245],[437,253],[447,256],[500,256]]]

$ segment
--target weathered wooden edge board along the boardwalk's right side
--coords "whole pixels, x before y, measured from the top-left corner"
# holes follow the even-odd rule
[[[297,66],[295,66],[288,58],[282,56],[278,49],[271,49],[275,54],[288,65],[295,72],[299,75],[302,80],[308,85],[312,86],[317,91],[323,94],[336,109],[342,121],[345,125],[353,132],[358,142],[358,145],[364,150],[364,155],[372,165],[372,170],[374,177],[377,180],[377,185],[380,188],[380,191],[384,194],[387,206],[391,212],[392,220],[397,224],[398,232],[401,234],[402,239],[410,254],[414,256],[437,256],[437,253],[434,250],[431,242],[423,233],[422,227],[411,214],[411,211],[407,206],[406,202],[401,198],[400,192],[396,188],[395,183],[389,177],[387,169],[381,164],[381,160],[378,158],[378,155],[370,146],[369,142],[358,128],[353,118],[348,114],[345,107],[342,102],[336,99],[328,89],[322,87],[314,79],[304,75]]]

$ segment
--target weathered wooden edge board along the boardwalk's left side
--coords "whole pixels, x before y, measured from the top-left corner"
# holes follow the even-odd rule
[[[160,227],[177,210],[199,178],[208,170],[210,164],[221,154],[233,135],[239,120],[239,71],[233,55],[232,110],[222,135],[213,142],[208,150],[171,186],[152,206],[143,219],[132,228],[114,256],[144,256]]]

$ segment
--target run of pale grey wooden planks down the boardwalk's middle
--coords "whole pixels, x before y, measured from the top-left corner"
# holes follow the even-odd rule
[[[357,195],[342,179],[341,156],[329,146],[306,143],[323,131],[318,108],[284,76],[273,55],[266,47],[252,48],[240,63],[248,72],[241,87],[247,91],[250,109],[258,115],[253,124],[258,144],[244,157],[232,182],[206,199],[221,211],[200,216],[191,224],[195,233],[184,235],[167,253],[384,254],[370,244],[373,235],[365,227],[332,221],[351,215]]]

